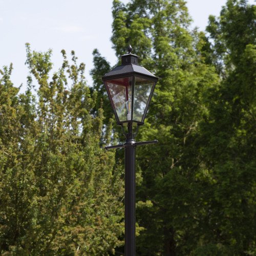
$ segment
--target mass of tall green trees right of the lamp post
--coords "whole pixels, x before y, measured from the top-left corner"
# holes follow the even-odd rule
[[[206,34],[180,0],[116,0],[113,17],[117,56],[131,44],[162,78],[138,136],[159,144],[137,150],[137,253],[253,253],[255,7],[227,1]]]

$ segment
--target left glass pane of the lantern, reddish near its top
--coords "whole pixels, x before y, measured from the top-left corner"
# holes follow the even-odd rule
[[[107,86],[119,121],[131,120],[132,77],[107,81]]]

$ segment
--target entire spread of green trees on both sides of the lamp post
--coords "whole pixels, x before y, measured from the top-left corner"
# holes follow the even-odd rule
[[[137,150],[137,254],[255,254],[255,6],[228,0],[206,33],[183,0],[114,0],[113,18],[116,55],[131,44],[162,78],[136,138],[159,140]],[[51,51],[27,45],[25,94],[1,70],[3,254],[123,250],[123,152],[101,149],[119,131],[98,79],[110,63],[93,52],[89,88],[62,54],[50,78]]]

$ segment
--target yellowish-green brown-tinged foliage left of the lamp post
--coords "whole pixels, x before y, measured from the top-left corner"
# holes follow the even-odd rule
[[[113,152],[100,147],[103,112],[84,64],[50,78],[51,51],[30,50],[25,94],[0,78],[0,250],[2,254],[107,254],[120,244],[123,194]],[[106,129],[105,141],[110,139]]]

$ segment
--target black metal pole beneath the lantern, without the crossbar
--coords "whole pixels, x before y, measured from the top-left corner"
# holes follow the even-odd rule
[[[135,256],[135,140],[132,127],[129,125],[129,134],[126,135],[125,149],[125,210],[124,210],[124,255]]]

